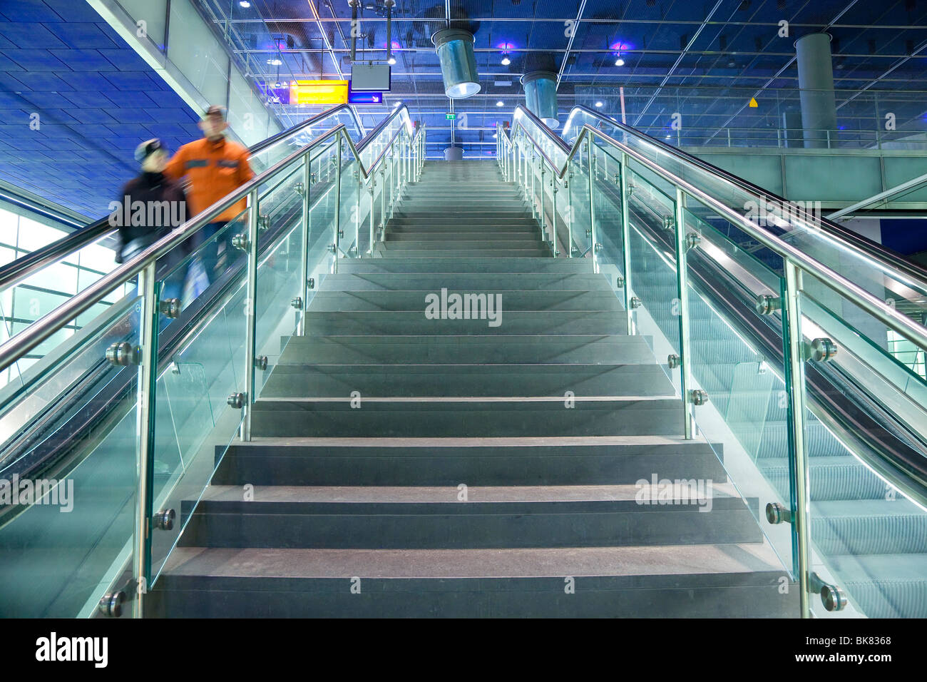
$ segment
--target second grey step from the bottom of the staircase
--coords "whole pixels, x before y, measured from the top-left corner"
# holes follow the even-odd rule
[[[762,542],[730,483],[467,487],[210,485],[182,547],[476,549]],[[657,499],[657,495],[662,495]],[[756,500],[752,500],[756,508]]]

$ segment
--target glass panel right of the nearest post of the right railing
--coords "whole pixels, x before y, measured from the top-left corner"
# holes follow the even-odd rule
[[[844,591],[840,615],[922,618],[927,510],[915,482],[927,472],[927,384],[888,352],[883,324],[823,281],[803,276],[801,305],[807,344],[839,340],[829,361],[806,363],[811,569]],[[818,341],[808,353],[820,349]],[[852,428],[834,425],[818,405],[851,412]],[[834,615],[819,598],[811,607]]]

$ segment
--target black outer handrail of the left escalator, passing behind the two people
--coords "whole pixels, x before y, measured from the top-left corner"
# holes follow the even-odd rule
[[[251,155],[258,153],[260,150],[270,147],[275,142],[279,142],[289,135],[295,135],[304,128],[311,127],[315,123],[340,113],[343,109],[348,109],[350,111],[351,116],[354,118],[354,122],[358,125],[358,130],[363,135],[363,128],[361,127],[357,112],[350,108],[349,105],[341,104],[333,109],[326,109],[322,113],[316,114],[282,133],[260,141],[256,145],[248,148],[248,153]],[[107,216],[100,218],[95,223],[91,223],[82,229],[71,232],[70,235],[66,237],[53,241],[51,244],[47,244],[41,249],[36,249],[21,258],[17,258],[12,263],[0,267],[0,290],[16,286],[23,279],[32,276],[45,266],[57,263],[57,261],[67,257],[70,253],[80,251],[83,247],[92,244],[97,239],[115,233],[116,230],[116,227],[109,225],[109,217]]]

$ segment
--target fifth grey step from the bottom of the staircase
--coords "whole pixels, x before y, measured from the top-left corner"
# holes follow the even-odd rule
[[[286,354],[286,351],[285,351]],[[297,365],[273,367],[262,398],[673,396],[656,365]]]

